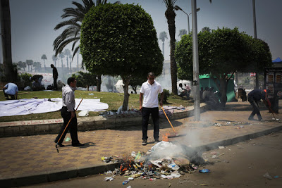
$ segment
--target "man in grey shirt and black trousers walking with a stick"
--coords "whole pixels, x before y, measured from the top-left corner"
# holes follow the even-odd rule
[[[71,144],[73,146],[84,146],[84,144],[80,144],[78,141],[78,119],[75,115],[75,89],[76,89],[76,80],[74,77],[68,78],[68,84],[63,87],[62,91],[62,102],[63,107],[61,108],[61,116],[63,118],[63,126],[61,127],[61,130],[54,140],[55,143],[57,143],[61,137],[61,134],[63,136],[61,137],[58,145],[63,147],[62,144],[63,139],[66,137],[66,133],[68,130],[70,130],[71,133]],[[71,120],[70,124],[66,128],[66,125],[68,124],[68,121]],[[63,130],[66,131],[63,133]]]

